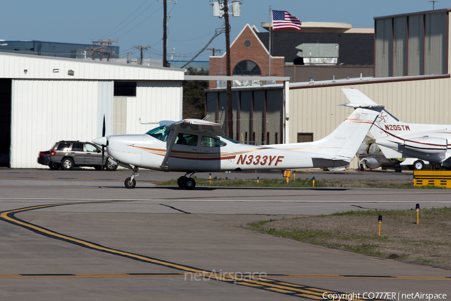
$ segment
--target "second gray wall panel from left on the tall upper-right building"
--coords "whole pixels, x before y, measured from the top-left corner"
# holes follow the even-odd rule
[[[393,19],[393,76],[407,75],[407,17]]]

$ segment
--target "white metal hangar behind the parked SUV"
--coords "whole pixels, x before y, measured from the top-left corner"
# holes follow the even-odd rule
[[[182,118],[184,70],[0,52],[0,164],[39,168],[59,140],[143,133]]]

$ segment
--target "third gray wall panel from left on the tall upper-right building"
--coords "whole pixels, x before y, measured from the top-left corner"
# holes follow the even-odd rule
[[[424,15],[408,17],[408,75],[423,75]]]

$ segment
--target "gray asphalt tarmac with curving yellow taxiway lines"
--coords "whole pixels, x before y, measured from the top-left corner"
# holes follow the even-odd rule
[[[129,171],[0,169],[0,299],[443,300],[451,296],[448,270],[240,227],[255,220],[352,209],[410,209],[416,203],[421,208],[449,207],[449,190],[196,187],[186,191],[155,186],[155,181],[181,175],[140,171],[136,188],[126,189],[123,182]],[[313,176],[412,179],[405,172],[305,174]]]

